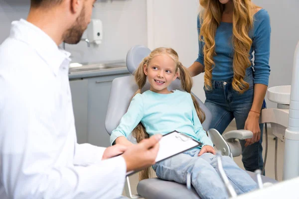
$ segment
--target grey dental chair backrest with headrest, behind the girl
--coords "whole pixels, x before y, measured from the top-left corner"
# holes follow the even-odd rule
[[[142,51],[138,51],[142,49]],[[148,49],[148,50],[147,50]],[[145,46],[135,46],[131,48],[127,54],[126,64],[128,70],[134,71],[139,66],[140,62],[148,56],[150,53],[149,48]],[[182,90],[180,85],[180,80],[175,80],[168,87],[169,90]],[[112,82],[112,87],[110,91],[110,97],[108,102],[105,127],[109,134],[117,128],[120,123],[122,116],[127,112],[133,95],[138,90],[138,86],[135,83],[134,76],[127,76],[116,78]],[[145,87],[142,89],[142,93],[149,90],[149,83],[147,82]],[[194,94],[193,94],[194,95]],[[207,131],[209,129],[212,114],[209,109],[200,101],[195,95],[194,97],[199,103],[199,106],[204,111],[206,115],[205,121],[202,123],[203,128]]]

